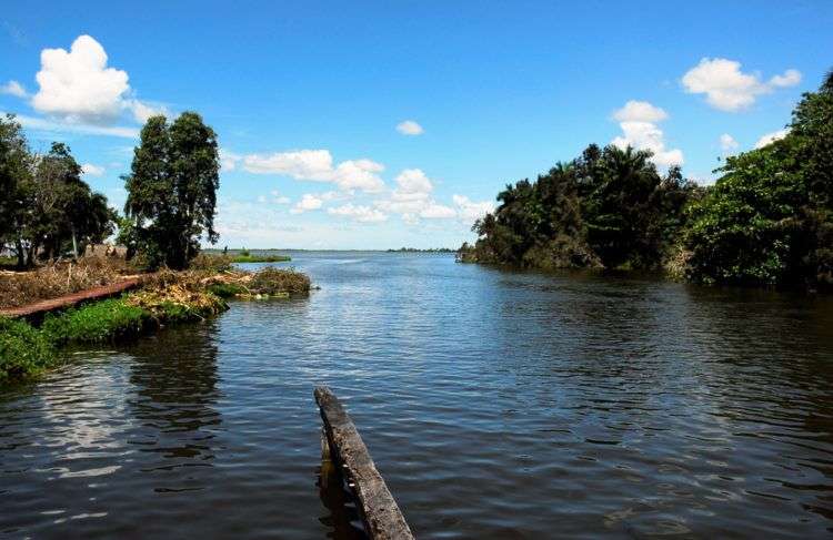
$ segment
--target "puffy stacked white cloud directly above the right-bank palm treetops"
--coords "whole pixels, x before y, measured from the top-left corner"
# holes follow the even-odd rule
[[[668,113],[646,101],[629,101],[613,113],[619,121],[622,134],[613,139],[611,144],[620,149],[633,146],[638,150],[653,152],[653,162],[660,166],[682,165],[683,152],[679,149],[665,147],[665,135],[656,125],[668,119]]]

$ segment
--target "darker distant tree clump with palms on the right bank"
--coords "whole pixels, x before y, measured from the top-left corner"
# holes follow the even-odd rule
[[[591,145],[535,182],[508,185],[494,214],[474,224],[480,238],[460,258],[540,268],[659,267],[696,187],[676,167],[661,176],[650,157]]]

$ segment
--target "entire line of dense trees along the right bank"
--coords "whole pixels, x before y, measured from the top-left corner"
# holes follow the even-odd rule
[[[498,195],[465,262],[664,269],[692,282],[833,285],[833,73],[785,137],[727,157],[702,187],[651,153],[590,145]]]

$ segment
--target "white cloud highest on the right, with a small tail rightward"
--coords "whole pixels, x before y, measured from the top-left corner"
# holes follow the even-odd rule
[[[704,58],[682,79],[685,91],[705,94],[706,102],[721,111],[736,112],[752,105],[759,95],[777,88],[794,86],[801,82],[801,72],[786,70],[763,81],[757,73],[744,73],[741,63],[724,58]]]

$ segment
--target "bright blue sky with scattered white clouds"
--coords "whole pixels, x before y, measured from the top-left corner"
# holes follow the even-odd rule
[[[142,122],[200,113],[221,247],[456,247],[589,143],[713,183],[833,68],[830,0],[38,6],[0,12],[0,111],[119,210]]]

